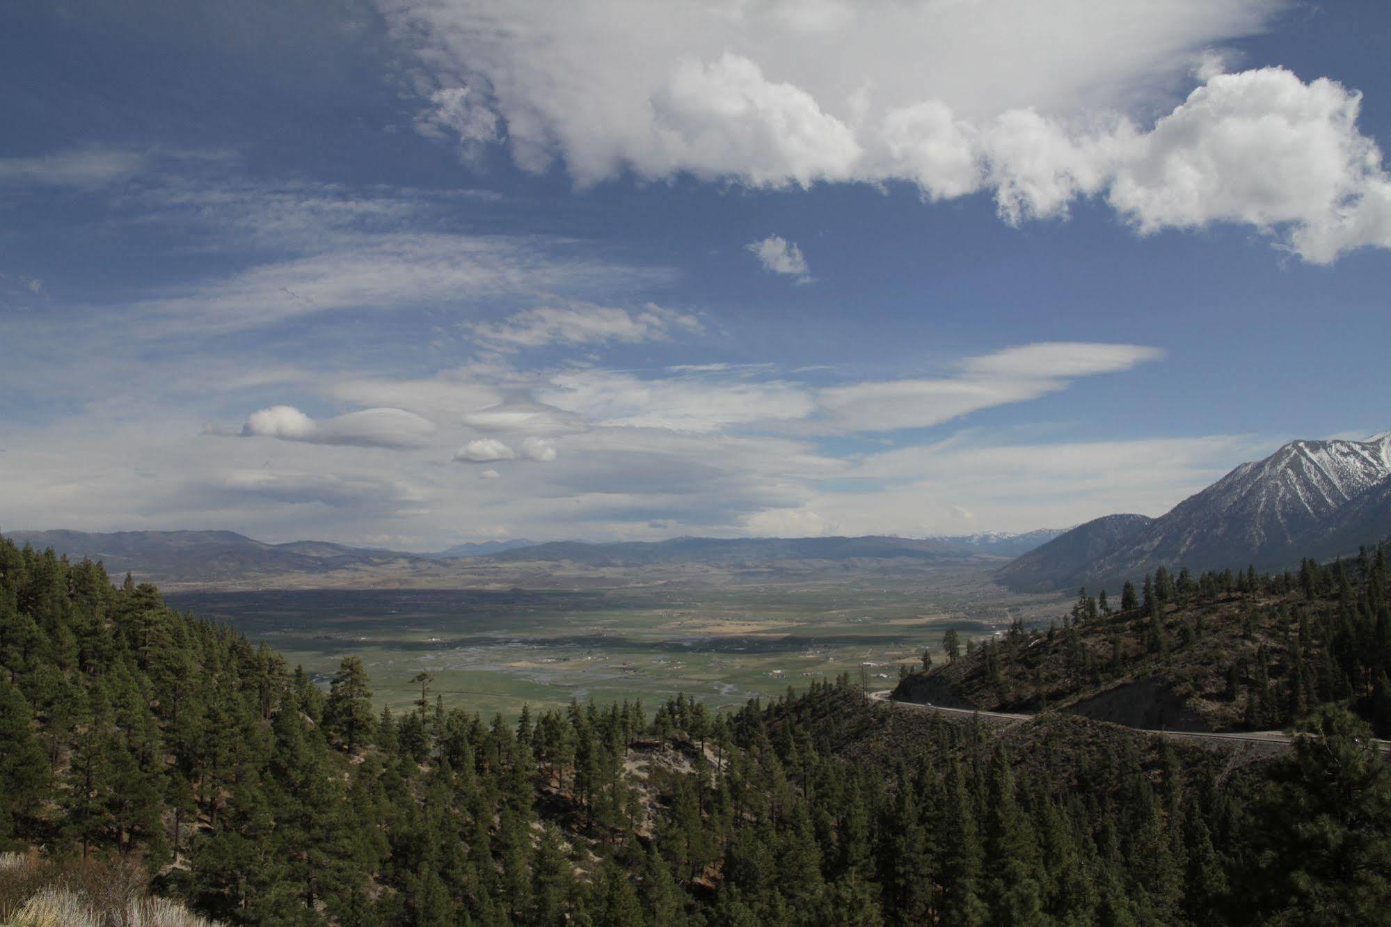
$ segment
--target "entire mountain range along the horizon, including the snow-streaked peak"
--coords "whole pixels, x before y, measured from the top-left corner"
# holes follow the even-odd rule
[[[606,571],[921,569],[1014,558],[996,579],[1017,592],[1116,587],[1159,566],[1298,565],[1391,537],[1391,431],[1365,441],[1291,441],[1242,464],[1160,518],[1107,515],[1071,530],[931,537],[675,537],[662,541],[474,541],[437,553],[328,541],[268,544],[235,532],[8,532],[21,544],[106,562],[164,585],[428,585],[527,582]]]

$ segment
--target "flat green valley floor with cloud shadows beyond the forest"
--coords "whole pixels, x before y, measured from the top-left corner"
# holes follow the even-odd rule
[[[947,628],[993,633],[1060,614],[1057,597],[1010,596],[979,573],[615,590],[292,590],[181,593],[171,605],[274,646],[320,682],[362,657],[380,703],[405,708],[421,670],[447,706],[484,717],[570,699],[711,708],[803,689],[840,672],[889,688]]]

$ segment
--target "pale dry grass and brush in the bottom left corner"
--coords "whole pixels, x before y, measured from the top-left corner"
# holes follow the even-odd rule
[[[54,863],[0,853],[0,923],[14,927],[216,927],[181,905],[146,894],[129,859]]]

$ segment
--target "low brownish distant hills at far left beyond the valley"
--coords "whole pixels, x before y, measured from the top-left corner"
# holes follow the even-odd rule
[[[267,544],[235,532],[4,532],[17,544],[51,547],[68,560],[88,557],[106,564],[108,573],[131,572],[139,579],[224,582],[285,573],[428,562],[415,554],[346,547],[328,541]]]

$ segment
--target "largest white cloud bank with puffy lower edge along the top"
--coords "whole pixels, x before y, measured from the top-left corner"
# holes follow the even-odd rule
[[[1359,95],[1223,72],[1220,43],[1280,0],[378,4],[428,67],[488,89],[523,168],[563,159],[580,184],[903,180],[929,200],[988,192],[1015,224],[1099,198],[1141,234],[1234,223],[1316,263],[1391,246]]]

